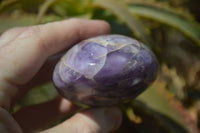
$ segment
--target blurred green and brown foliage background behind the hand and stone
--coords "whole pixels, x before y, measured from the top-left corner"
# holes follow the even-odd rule
[[[199,0],[1,0],[0,34],[16,26],[71,17],[102,19],[156,54],[156,82],[121,108],[116,133],[200,132]],[[57,97],[52,83],[33,88],[13,111]]]

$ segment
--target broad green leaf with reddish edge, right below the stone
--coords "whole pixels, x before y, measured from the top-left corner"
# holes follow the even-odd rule
[[[165,82],[160,80],[155,82],[136,100],[142,102],[158,114],[162,114],[166,118],[175,121],[188,132],[198,133],[196,122],[181,102],[176,100],[174,95],[167,91]]]

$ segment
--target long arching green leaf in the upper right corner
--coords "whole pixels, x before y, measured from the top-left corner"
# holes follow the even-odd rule
[[[144,4],[131,4],[129,9],[134,15],[152,19],[179,30],[200,46],[200,25],[197,22],[180,14]]]

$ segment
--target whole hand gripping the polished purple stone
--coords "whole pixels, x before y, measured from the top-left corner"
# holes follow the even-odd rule
[[[76,111],[70,101],[57,98],[26,107],[11,115],[10,108],[32,87],[50,81],[56,60],[49,60],[73,44],[109,33],[104,21],[70,19],[45,25],[14,28],[0,36],[0,132],[39,131]],[[41,133],[107,133],[121,123],[116,107],[81,111]]]

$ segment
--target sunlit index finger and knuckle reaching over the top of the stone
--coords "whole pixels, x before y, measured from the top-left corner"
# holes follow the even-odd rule
[[[80,19],[25,28],[9,44],[0,47],[0,106],[9,110],[20,88],[27,89],[23,85],[36,75],[48,57],[80,40],[109,31],[104,21]]]

